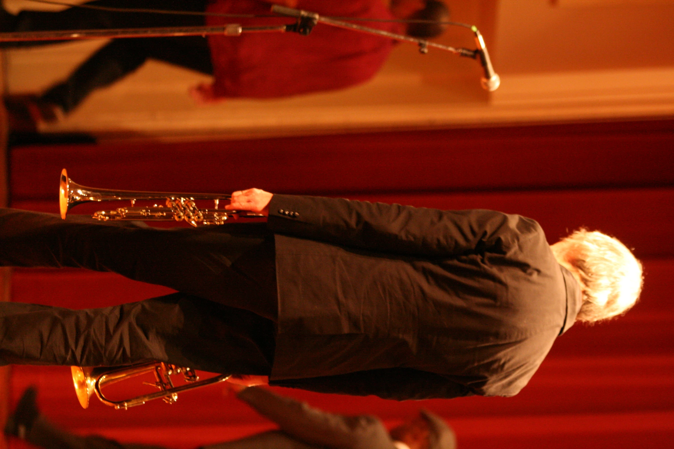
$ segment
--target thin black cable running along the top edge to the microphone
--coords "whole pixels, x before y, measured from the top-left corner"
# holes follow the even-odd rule
[[[149,8],[116,8],[111,6],[88,5],[86,3],[81,5],[73,5],[72,3],[65,3],[55,0],[30,0],[36,3],[47,3],[47,5],[59,5],[73,8],[98,9],[100,11],[111,11],[121,13],[154,13],[154,14],[173,14],[173,15],[209,15],[212,17],[226,17],[234,19],[255,19],[255,18],[278,18],[282,17],[276,14],[228,14],[228,13],[209,13],[206,11],[172,11],[170,9],[149,9]],[[422,19],[367,19],[367,18],[352,18],[352,17],[330,17],[326,18],[333,20],[349,20],[358,22],[397,22],[401,24],[439,24],[439,25],[456,25],[471,28],[471,25],[462,24],[461,22],[439,22],[437,20],[422,20]]]

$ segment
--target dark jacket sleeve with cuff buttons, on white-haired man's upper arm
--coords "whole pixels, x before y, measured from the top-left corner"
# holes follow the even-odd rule
[[[278,234],[409,256],[501,251],[540,230],[520,215],[441,211],[346,199],[274,195],[268,227]]]

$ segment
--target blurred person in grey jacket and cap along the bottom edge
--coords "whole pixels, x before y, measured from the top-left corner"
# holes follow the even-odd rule
[[[82,437],[59,429],[38,411],[35,396],[32,387],[24,392],[14,414],[7,420],[5,434],[44,449],[161,449],[142,444],[120,444],[96,435]],[[377,417],[326,413],[265,388],[244,388],[237,397],[278,424],[279,430],[202,446],[203,449],[456,448],[452,429],[428,411],[420,411],[415,419],[388,432]]]

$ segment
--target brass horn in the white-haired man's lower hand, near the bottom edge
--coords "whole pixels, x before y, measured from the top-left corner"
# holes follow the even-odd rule
[[[80,405],[82,405],[82,408],[84,409],[89,407],[89,399],[94,393],[96,396],[98,396],[100,402],[104,403],[105,405],[115,407],[117,410],[128,409],[129,407],[135,407],[136,405],[143,405],[144,403],[154,399],[163,399],[164,402],[173,404],[178,400],[179,392],[201,388],[202,386],[210,384],[216,384],[230,378],[230,376],[226,374],[220,374],[220,376],[199,380],[199,377],[193,370],[191,370],[191,368],[183,368],[171,364],[165,364],[161,361],[154,361],[148,364],[125,366],[121,368],[91,368],[71,366],[70,369],[73,373],[75,394],[78,395]],[[144,384],[156,386],[160,391],[144,394],[132,399],[125,399],[123,401],[111,401],[111,399],[106,398],[106,396],[104,396],[101,391],[105,385],[115,384],[121,380],[140,376],[149,372],[154,373],[154,379],[156,382],[154,382],[154,384],[144,382]],[[171,375],[173,374],[183,374],[186,383],[181,386],[173,386],[173,381],[171,380]]]

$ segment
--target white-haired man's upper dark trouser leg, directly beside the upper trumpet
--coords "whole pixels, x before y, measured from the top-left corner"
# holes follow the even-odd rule
[[[270,320],[278,313],[266,223],[165,230],[0,209],[0,265],[114,271]]]

